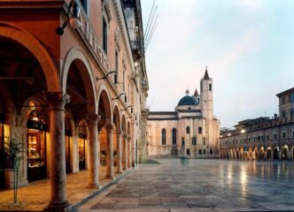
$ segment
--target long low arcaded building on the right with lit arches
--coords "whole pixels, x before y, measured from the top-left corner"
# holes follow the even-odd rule
[[[221,131],[221,158],[292,160],[294,156],[294,87],[278,94],[279,116],[247,119]]]

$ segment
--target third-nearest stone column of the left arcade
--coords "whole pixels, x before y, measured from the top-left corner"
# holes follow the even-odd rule
[[[107,156],[106,156],[106,178],[114,178],[113,175],[113,138],[112,124],[106,125],[107,130]]]

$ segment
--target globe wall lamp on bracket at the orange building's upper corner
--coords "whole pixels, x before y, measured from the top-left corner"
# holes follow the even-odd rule
[[[72,9],[73,9],[73,12],[72,14],[70,14]],[[68,4],[66,18],[67,18],[66,22],[62,25],[62,27],[58,27],[56,29],[56,33],[59,34],[60,36],[65,33],[65,28],[67,26],[68,19],[69,19],[69,24],[72,28],[77,29],[81,27],[81,8],[80,8],[80,5],[75,0],[72,0]]]

